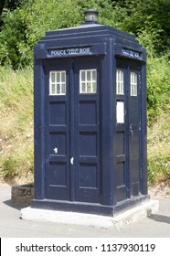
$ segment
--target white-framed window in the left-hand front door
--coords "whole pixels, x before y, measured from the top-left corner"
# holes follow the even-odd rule
[[[49,72],[49,95],[66,95],[66,71]]]

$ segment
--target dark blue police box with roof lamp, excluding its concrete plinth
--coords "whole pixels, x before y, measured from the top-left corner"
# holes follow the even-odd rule
[[[35,46],[32,208],[113,216],[148,197],[146,52],[97,16]]]

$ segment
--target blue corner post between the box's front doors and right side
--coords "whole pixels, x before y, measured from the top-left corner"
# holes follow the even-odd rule
[[[113,83],[113,39],[105,39],[106,51],[104,59],[101,61],[101,203],[112,206],[116,204],[114,193],[115,178],[113,173],[113,134],[114,119],[116,115],[115,87]]]

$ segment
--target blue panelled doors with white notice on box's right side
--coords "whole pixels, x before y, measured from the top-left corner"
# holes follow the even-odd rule
[[[141,97],[140,66],[136,62],[117,59],[116,181],[117,201],[140,194]],[[123,118],[124,114],[124,118]]]

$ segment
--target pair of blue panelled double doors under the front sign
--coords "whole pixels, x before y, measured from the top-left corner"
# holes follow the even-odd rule
[[[46,197],[100,203],[99,59],[50,61],[45,74]]]

